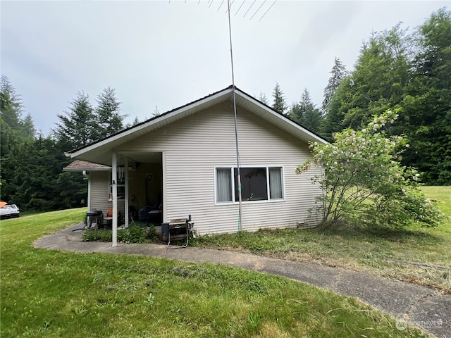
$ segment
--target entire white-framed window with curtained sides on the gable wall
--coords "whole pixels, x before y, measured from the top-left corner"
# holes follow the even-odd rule
[[[238,201],[237,168],[216,168],[216,203]],[[240,168],[242,201],[283,199],[282,167]]]

